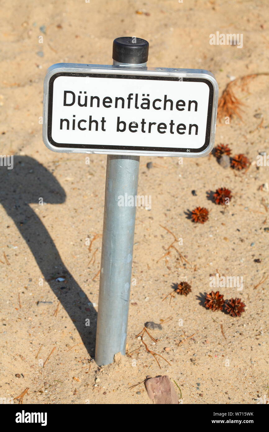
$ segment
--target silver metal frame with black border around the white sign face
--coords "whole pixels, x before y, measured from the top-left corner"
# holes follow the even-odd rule
[[[117,146],[95,144],[63,144],[55,143],[51,137],[53,83],[58,76],[96,76],[108,78],[156,79],[160,81],[195,81],[204,82],[209,86],[209,105],[206,125],[206,142],[199,149],[174,149],[146,146]],[[59,63],[51,66],[44,79],[44,108],[43,108],[43,140],[48,149],[60,153],[98,153],[129,156],[177,156],[201,157],[208,155],[215,141],[215,125],[218,108],[218,84],[214,75],[207,70],[174,69],[157,67],[109,66],[96,64],[67,64]]]

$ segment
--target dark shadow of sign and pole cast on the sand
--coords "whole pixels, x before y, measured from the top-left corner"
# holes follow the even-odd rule
[[[85,348],[93,357],[97,312],[92,305],[88,305],[90,300],[64,265],[51,235],[28,205],[38,203],[40,197],[45,203],[64,203],[66,194],[63,187],[51,172],[29,156],[14,156],[13,169],[1,166],[0,184],[0,203],[13,219],[35,257],[44,279],[70,316]],[[58,276],[63,276],[65,282],[57,282]],[[85,307],[90,311],[86,312]],[[86,318],[90,320],[89,327],[85,325]]]

